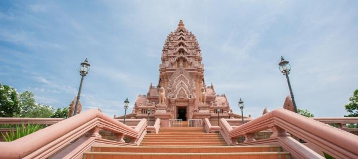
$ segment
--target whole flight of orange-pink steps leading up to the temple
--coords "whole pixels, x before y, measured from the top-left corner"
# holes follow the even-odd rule
[[[184,125],[183,125],[184,126]],[[227,146],[218,133],[202,127],[160,128],[140,146],[94,146],[83,159],[291,159],[280,146]]]

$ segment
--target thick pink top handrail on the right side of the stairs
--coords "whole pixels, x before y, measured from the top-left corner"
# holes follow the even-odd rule
[[[254,142],[253,135],[266,129],[272,129],[271,138],[288,138],[287,131],[334,158],[358,159],[358,136],[282,108],[232,130],[224,119],[220,119],[220,126],[231,140],[245,136],[246,142]]]

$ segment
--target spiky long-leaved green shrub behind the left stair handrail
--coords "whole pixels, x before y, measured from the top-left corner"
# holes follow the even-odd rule
[[[42,128],[43,126],[39,124],[27,124],[25,127],[25,125],[22,123],[22,125],[16,125],[16,132],[10,131],[6,132],[5,134],[1,133],[1,136],[5,142],[10,142],[29,135]]]

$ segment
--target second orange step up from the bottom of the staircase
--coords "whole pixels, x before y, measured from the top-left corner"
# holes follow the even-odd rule
[[[281,152],[280,146],[209,146],[209,147],[148,147],[148,146],[93,146],[92,152],[121,153],[243,153]]]

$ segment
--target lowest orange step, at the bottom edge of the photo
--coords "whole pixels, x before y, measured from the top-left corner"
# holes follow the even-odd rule
[[[104,153],[86,152],[83,159],[291,159],[288,152],[250,153]]]

